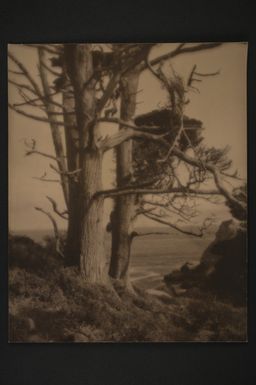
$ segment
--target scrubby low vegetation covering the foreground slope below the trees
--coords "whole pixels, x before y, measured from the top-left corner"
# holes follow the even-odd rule
[[[191,290],[174,296],[118,280],[88,284],[51,240],[9,239],[10,342],[244,341],[246,309]]]

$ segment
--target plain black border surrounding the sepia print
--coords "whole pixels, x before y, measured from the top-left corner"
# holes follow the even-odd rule
[[[0,6],[0,383],[252,385],[256,382],[256,31],[248,1],[6,2]],[[248,343],[8,344],[8,43],[248,41]],[[254,327],[253,327],[254,326]]]

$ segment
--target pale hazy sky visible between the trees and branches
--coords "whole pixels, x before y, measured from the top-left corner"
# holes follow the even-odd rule
[[[175,44],[161,44],[155,49],[155,55],[173,49]],[[9,49],[26,64],[35,79],[39,81],[36,67],[36,55],[33,49],[21,45],[10,45]],[[189,94],[190,103],[185,113],[203,121],[205,142],[210,146],[230,146],[230,157],[234,168],[242,177],[246,176],[246,69],[247,45],[226,43],[211,51],[182,55],[172,60],[173,68],[182,76],[188,76],[194,64],[199,72],[215,72],[220,75],[205,78],[198,83],[200,93]],[[136,114],[140,114],[164,105],[165,92],[148,71],[141,75]],[[9,88],[9,100],[15,102],[17,94]],[[113,130],[108,127],[107,130]],[[105,128],[106,130],[106,128]],[[36,122],[9,112],[9,228],[12,231],[26,229],[50,228],[48,219],[35,211],[35,206],[50,210],[46,195],[52,196],[64,207],[61,189],[58,184],[45,183],[33,179],[42,176],[56,178],[49,170],[49,161],[37,155],[25,157],[24,139],[34,138],[38,150],[54,154],[50,129],[47,123]],[[113,154],[108,153],[104,166],[104,187],[113,185]],[[219,212],[221,217],[227,215],[224,206],[206,207],[202,211]],[[109,211],[107,205],[106,212]],[[60,227],[65,224],[58,220]],[[149,222],[140,221],[140,225]]]

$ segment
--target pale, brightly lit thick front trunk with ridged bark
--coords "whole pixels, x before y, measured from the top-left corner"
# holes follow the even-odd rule
[[[65,60],[74,89],[79,132],[80,271],[88,282],[105,283],[104,200],[95,196],[102,190],[103,154],[95,145],[96,97],[90,45],[66,45]]]

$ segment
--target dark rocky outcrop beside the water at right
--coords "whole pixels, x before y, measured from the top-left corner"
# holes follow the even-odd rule
[[[246,229],[233,219],[221,223],[200,263],[188,264],[164,277],[172,290],[210,292],[237,305],[246,303]]]

